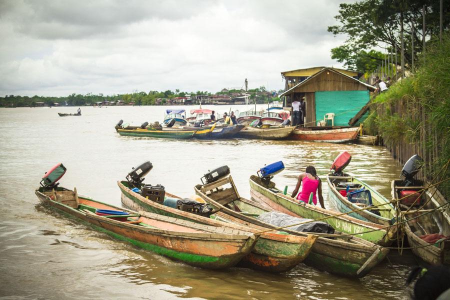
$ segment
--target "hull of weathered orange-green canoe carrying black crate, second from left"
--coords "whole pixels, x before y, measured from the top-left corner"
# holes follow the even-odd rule
[[[117,185],[121,190],[122,204],[134,210],[146,210],[205,225],[239,229],[253,233],[258,231],[248,226],[230,223],[229,221],[224,222],[226,219],[220,220],[218,216],[214,216],[216,219],[208,218],[164,206],[141,196],[139,193],[133,192],[128,188],[127,181],[117,181]],[[165,195],[172,198],[179,198],[167,192]],[[262,233],[251,253],[242,258],[240,265],[268,272],[284,272],[290,270],[306,258],[316,238],[316,235],[311,234],[295,236],[291,234],[280,234],[277,231]]]

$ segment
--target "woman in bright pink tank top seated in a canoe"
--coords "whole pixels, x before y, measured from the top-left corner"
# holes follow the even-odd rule
[[[303,187],[297,195],[301,183],[303,183]],[[294,198],[296,196],[297,200],[307,203],[309,201],[309,195],[311,194],[311,192],[312,202],[314,203],[314,205],[317,205],[318,195],[320,206],[322,208],[325,208],[325,206],[323,205],[322,181],[317,176],[315,168],[312,165],[308,165],[306,167],[306,171],[298,176],[297,185],[295,186],[291,197]]]

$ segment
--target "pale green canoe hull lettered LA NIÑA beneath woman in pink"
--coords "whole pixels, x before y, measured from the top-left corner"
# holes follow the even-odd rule
[[[340,214],[340,212],[323,209],[304,202],[300,204],[292,197],[283,194],[281,190],[275,187],[275,183],[272,181],[265,184],[255,175],[251,175],[249,181],[251,197],[254,200],[265,203],[275,210],[279,210],[292,216],[310,219]],[[323,221],[333,226],[336,230],[343,233],[355,234],[354,236],[356,237],[360,237],[381,246],[389,246],[396,238],[396,230],[390,228],[389,230],[386,230],[383,229],[383,225],[363,221],[349,215],[329,217],[323,219]]]

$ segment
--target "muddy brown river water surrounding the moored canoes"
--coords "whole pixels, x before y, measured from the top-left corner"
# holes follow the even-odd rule
[[[263,107],[263,106],[262,106]],[[342,150],[353,155],[346,170],[389,197],[401,166],[383,147],[301,141],[170,140],[119,136],[119,119],[132,124],[162,120],[169,106],[81,107],[81,116],[59,117],[77,107],[0,108],[0,298],[2,299],[398,299],[414,257],[391,250],[389,259],[361,279],[299,264],[281,274],[245,268],[205,270],[171,261],[94,231],[42,207],[34,195],[56,162],[67,172],[62,186],[120,206],[116,180],[144,160],[145,182],[188,197],[208,170],[227,164],[239,193],[264,164],[282,160],[274,181],[292,191],[312,164],[324,176]],[[177,107],[179,108],[179,107]],[[186,106],[186,110],[197,108]],[[204,106],[222,113],[229,106]],[[245,110],[237,105],[233,110]],[[323,184],[325,206],[327,186]],[[395,270],[394,270],[394,269]]]

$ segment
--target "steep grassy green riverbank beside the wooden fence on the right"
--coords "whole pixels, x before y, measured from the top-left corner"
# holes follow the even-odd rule
[[[382,136],[394,156],[405,148],[411,153],[416,150],[425,159],[423,171],[428,179],[447,178],[450,174],[450,166],[445,173],[441,171],[450,158],[448,53],[450,35],[445,34],[442,43],[428,45],[413,75],[373,100],[372,112],[364,122],[368,132]],[[442,183],[439,189],[448,198],[450,182]]]

